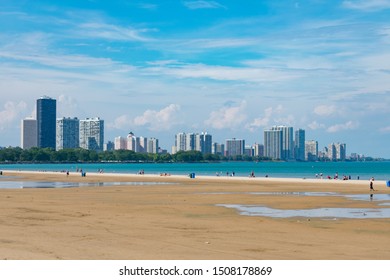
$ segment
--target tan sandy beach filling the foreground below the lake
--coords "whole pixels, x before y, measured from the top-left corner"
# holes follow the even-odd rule
[[[368,181],[19,171],[3,171],[0,180],[96,183],[0,189],[1,259],[390,259],[390,217],[271,218],[218,206],[390,208],[343,195],[283,195],[369,197]],[[384,181],[374,187],[374,196],[390,194]]]

